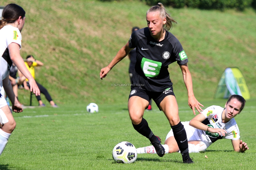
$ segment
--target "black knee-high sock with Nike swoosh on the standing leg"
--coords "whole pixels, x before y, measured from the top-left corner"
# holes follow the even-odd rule
[[[171,126],[173,130],[173,135],[174,138],[179,146],[180,153],[184,156],[189,156],[188,153],[188,139],[187,139],[187,134],[184,129],[184,126],[181,122],[179,122],[177,125]]]

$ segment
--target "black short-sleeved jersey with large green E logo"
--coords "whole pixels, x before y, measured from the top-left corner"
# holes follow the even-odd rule
[[[168,65],[177,61],[179,65],[186,64],[186,56],[179,40],[166,31],[162,41],[156,41],[148,27],[131,34],[129,47],[136,47],[136,65],[133,83],[141,88],[162,92],[172,86]]]

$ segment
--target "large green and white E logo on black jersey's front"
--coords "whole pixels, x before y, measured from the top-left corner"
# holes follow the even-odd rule
[[[146,77],[156,77],[159,75],[162,63],[146,58],[141,60],[141,69]]]

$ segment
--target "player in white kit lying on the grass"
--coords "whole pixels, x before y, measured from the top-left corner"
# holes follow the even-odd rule
[[[240,114],[245,105],[245,100],[240,95],[232,95],[225,108],[210,106],[202,114],[195,116],[190,122],[182,122],[186,130],[189,153],[205,152],[206,149],[218,139],[231,139],[234,151],[244,152],[248,148],[247,143],[240,140],[240,133],[235,116]],[[172,129],[166,136],[163,145],[166,154],[179,152],[179,147],[173,136]],[[156,150],[153,146],[137,148],[138,154],[152,153]]]

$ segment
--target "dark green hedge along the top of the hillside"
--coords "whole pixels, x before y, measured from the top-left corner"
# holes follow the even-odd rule
[[[185,6],[200,9],[218,9],[237,8],[243,10],[252,5],[256,0],[145,0],[148,5],[156,5],[161,2],[164,5],[170,5],[174,8],[183,8]],[[256,5],[256,3],[255,3]]]

